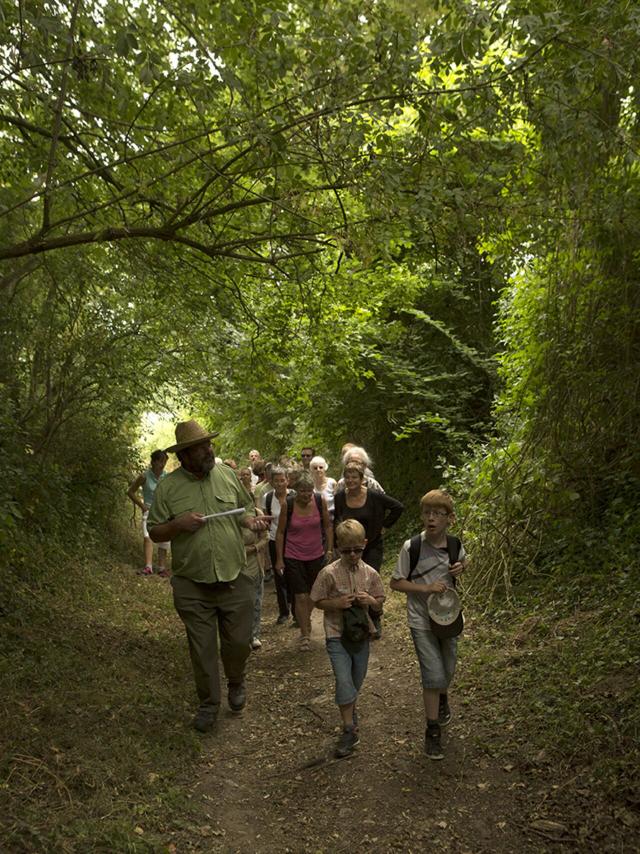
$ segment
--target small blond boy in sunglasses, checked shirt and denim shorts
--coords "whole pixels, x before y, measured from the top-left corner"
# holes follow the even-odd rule
[[[339,560],[320,571],[311,590],[311,601],[324,611],[327,653],[336,680],[336,703],[340,708],[342,734],[335,750],[337,759],[353,753],[360,742],[356,701],[367,675],[369,637],[375,627],[368,609],[382,610],[384,588],[378,573],[362,560],[367,544],[364,528],[355,519],[347,519],[336,528]],[[343,637],[343,614],[352,606],[367,614],[369,637],[359,642]]]

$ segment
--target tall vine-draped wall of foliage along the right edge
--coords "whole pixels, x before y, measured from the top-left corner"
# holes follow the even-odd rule
[[[548,60],[518,86],[529,209],[513,185],[508,228],[484,243],[511,267],[496,437],[457,478],[489,594],[585,549],[616,569],[638,534],[637,25],[619,4],[540,5],[512,24]]]

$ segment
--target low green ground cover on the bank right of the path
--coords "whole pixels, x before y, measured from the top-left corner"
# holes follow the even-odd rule
[[[616,823],[636,825],[638,578],[635,558],[611,573],[583,553],[564,578],[516,584],[510,607],[496,603],[473,620],[456,675],[466,714],[478,718],[476,739],[529,785],[556,784],[547,814],[579,817],[580,845],[606,844],[613,804]],[[502,743],[496,725],[508,733]]]

